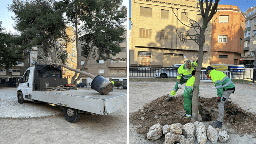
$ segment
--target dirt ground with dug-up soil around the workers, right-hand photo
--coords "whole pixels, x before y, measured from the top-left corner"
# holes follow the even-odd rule
[[[183,108],[183,85],[183,89],[177,92],[172,101],[165,101],[167,98],[166,95],[170,93],[171,87],[173,87],[174,84],[175,82],[130,82],[129,140],[131,144],[163,143],[164,135],[159,140],[146,139],[149,128],[156,123],[160,123],[164,126],[165,124],[186,124],[191,122],[186,119]],[[256,86],[249,85],[248,83],[235,83],[235,85],[236,91],[234,94],[231,94],[231,100],[228,100],[222,129],[229,132],[230,136],[227,143],[255,143],[255,106],[248,105],[248,103],[256,102],[256,99],[252,97],[255,96]],[[199,89],[202,90],[200,91],[202,99],[199,101],[199,113],[207,126],[212,120],[216,120],[218,117],[218,110],[216,110],[218,108],[215,107],[215,111],[211,110],[217,100],[217,90],[213,84],[209,82],[200,83]],[[243,95],[241,95],[241,93],[243,93]],[[241,108],[241,106],[243,108]],[[168,114],[162,116],[165,112],[168,112]],[[141,120],[142,116],[144,120]],[[158,116],[158,118],[155,118],[155,116]],[[145,133],[141,131],[143,129],[146,129]],[[211,142],[207,140],[207,143]],[[218,141],[218,143],[220,143],[220,141]],[[196,140],[195,144],[197,144]]]

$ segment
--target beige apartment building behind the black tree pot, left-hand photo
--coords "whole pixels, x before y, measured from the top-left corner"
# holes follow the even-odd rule
[[[116,54],[116,56],[111,55],[110,60],[100,60],[99,63],[96,62],[95,59],[92,58],[92,54],[85,66],[84,72],[91,73],[94,76],[102,75],[105,78],[112,78],[113,81],[123,81],[127,84],[127,25],[125,27],[124,32],[124,41],[119,43],[122,48],[122,52]],[[79,42],[78,44],[78,56],[79,56],[79,65],[78,69],[82,69],[85,59],[81,53],[83,50],[81,46],[84,45],[84,42]],[[100,50],[100,48],[97,48]],[[82,75],[80,78],[80,82],[84,84],[89,84],[92,82],[92,79],[88,76]]]

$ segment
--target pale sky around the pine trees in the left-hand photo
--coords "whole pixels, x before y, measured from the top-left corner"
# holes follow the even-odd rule
[[[14,20],[12,20],[12,17],[14,17],[13,12],[8,12],[7,5],[12,4],[12,0],[0,0],[0,21],[2,21],[2,28],[5,28],[4,31],[7,32],[17,32],[14,28]],[[125,5],[128,8],[128,0],[123,0],[123,5]],[[125,22],[124,25],[127,25],[128,22]]]

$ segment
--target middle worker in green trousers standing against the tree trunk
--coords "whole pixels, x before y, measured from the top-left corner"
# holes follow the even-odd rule
[[[192,98],[193,98],[193,92],[196,89],[196,86],[195,86],[196,70],[193,70],[191,74],[192,74],[192,77],[188,79],[184,93],[183,93],[184,109],[186,110],[186,116],[188,119],[191,119]],[[198,98],[201,99],[199,91],[198,91]]]

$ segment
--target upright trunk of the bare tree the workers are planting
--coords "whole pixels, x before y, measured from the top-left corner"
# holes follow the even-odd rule
[[[198,91],[199,91],[200,74],[201,74],[201,68],[203,64],[203,55],[204,55],[204,32],[205,32],[205,29],[202,28],[200,30],[200,35],[199,35],[200,45],[198,50],[198,63],[196,66],[196,79],[195,79],[196,89],[193,92],[193,98],[192,98],[192,119],[195,119],[196,121],[200,121],[200,118],[201,118],[198,115]]]

